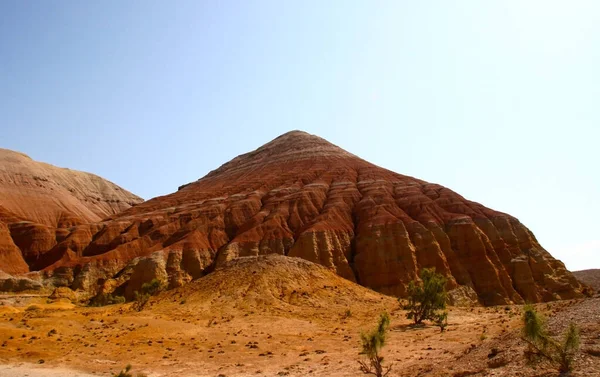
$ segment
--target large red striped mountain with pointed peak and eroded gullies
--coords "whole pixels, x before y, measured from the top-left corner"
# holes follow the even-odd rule
[[[104,221],[26,224],[10,234],[45,284],[90,294],[131,297],[152,278],[175,288],[266,254],[397,296],[426,267],[486,305],[570,299],[584,289],[516,218],[300,131]]]

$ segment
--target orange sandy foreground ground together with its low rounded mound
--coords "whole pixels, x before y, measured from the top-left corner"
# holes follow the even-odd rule
[[[62,291],[0,296],[0,377],[110,377],[127,364],[150,377],[356,377],[360,333],[383,311],[388,377],[559,377],[525,360],[517,305],[454,306],[446,331],[415,327],[395,298],[301,258],[236,258],[139,312],[74,305]],[[580,327],[573,376],[600,375],[600,298],[537,309],[553,334]]]

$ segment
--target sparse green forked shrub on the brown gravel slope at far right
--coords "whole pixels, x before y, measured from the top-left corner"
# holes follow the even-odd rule
[[[579,329],[574,323],[569,324],[562,341],[558,341],[546,330],[546,322],[535,311],[532,305],[523,310],[523,340],[529,346],[527,356],[530,361],[544,359],[557,365],[561,373],[569,373],[573,369],[575,355],[579,350]]]

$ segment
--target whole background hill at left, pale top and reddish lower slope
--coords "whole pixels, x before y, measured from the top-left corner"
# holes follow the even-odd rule
[[[0,270],[29,272],[37,256],[72,227],[99,222],[142,201],[94,174],[0,148]]]

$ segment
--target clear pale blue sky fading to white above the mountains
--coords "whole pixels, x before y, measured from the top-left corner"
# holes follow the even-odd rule
[[[600,268],[600,2],[0,1],[0,147],[149,199],[293,129]]]

